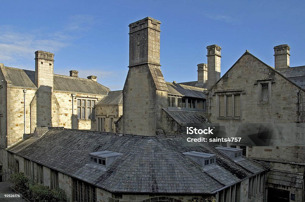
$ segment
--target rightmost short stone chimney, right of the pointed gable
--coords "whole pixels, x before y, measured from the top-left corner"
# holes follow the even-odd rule
[[[274,68],[283,69],[289,67],[290,47],[287,44],[274,46]]]

